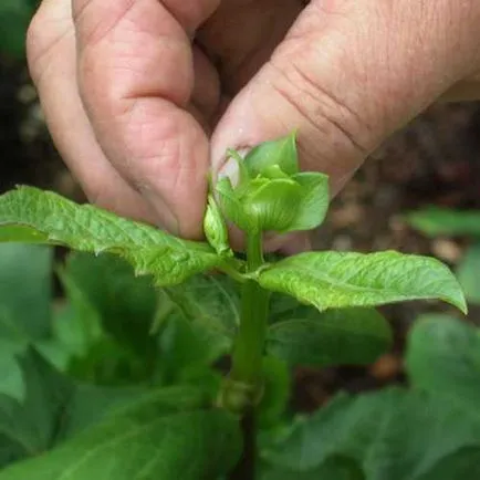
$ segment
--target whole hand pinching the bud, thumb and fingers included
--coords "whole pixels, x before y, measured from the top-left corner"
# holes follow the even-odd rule
[[[299,129],[338,191],[439,98],[480,98],[478,0],[43,0],[28,59],[88,199],[201,237],[227,147]]]

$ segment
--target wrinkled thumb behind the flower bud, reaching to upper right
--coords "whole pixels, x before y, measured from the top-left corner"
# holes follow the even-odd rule
[[[232,168],[227,148],[296,128],[302,168],[330,175],[336,192],[388,135],[479,64],[478,2],[474,12],[468,1],[451,3],[312,1],[219,122],[213,170]]]

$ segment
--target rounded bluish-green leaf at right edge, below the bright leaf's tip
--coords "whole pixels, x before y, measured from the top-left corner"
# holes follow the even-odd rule
[[[413,384],[478,413],[480,331],[447,315],[424,315],[409,334],[406,365]]]

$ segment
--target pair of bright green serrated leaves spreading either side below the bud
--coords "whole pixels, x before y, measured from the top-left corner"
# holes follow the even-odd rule
[[[0,197],[0,241],[116,253],[134,267],[136,274],[150,274],[160,286],[178,284],[212,268],[242,276],[240,261],[218,254],[205,243],[180,240],[154,227],[29,187]],[[458,282],[445,265],[396,252],[303,253],[263,267],[249,278],[319,310],[440,299],[466,311]]]

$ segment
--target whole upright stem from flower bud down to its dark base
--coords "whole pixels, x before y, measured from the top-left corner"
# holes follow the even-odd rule
[[[254,272],[264,263],[262,237],[247,236],[247,270]],[[254,480],[257,470],[255,404],[263,388],[262,362],[270,292],[247,280],[241,292],[240,326],[232,354],[231,379],[250,390],[242,411],[243,455],[229,480]]]

